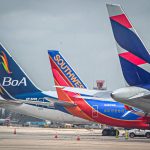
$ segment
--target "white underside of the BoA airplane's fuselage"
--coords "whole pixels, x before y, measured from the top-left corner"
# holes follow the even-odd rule
[[[36,118],[40,118],[44,120],[50,120],[54,122],[72,123],[72,124],[91,123],[88,120],[84,120],[84,119],[72,116],[68,113],[64,113],[56,109],[41,108],[41,107],[32,106],[28,104],[20,104],[20,105],[5,104],[2,107],[13,112],[17,112],[20,114],[24,114],[27,116],[32,116],[32,117],[36,117]]]

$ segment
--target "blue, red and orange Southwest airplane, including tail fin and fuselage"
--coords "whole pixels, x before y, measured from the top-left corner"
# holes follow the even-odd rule
[[[81,89],[80,87],[86,88],[85,84],[58,50],[48,50],[48,55],[58,99],[72,104],[65,108],[70,114],[109,126],[150,129],[150,118],[145,118],[136,110],[114,101],[110,94],[100,98],[92,96],[93,92],[88,92],[89,89]]]

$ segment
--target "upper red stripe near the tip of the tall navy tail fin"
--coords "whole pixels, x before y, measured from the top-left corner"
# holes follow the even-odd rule
[[[125,26],[126,28],[132,28],[132,25],[130,24],[128,18],[125,16],[125,14],[112,16],[110,19],[118,22],[119,24]]]

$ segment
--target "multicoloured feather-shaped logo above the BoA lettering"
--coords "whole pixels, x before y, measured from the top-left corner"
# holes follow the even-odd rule
[[[8,60],[7,60],[6,54],[3,51],[1,51],[0,58],[2,60],[2,62],[0,64],[3,66],[4,70],[8,74],[11,74],[12,72],[9,69],[9,65],[8,65]]]

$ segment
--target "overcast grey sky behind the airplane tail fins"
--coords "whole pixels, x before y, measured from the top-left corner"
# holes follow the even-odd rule
[[[150,50],[149,0],[0,0],[0,42],[43,90],[54,90],[47,50],[60,50],[91,89],[125,86],[106,3],[121,4]]]

